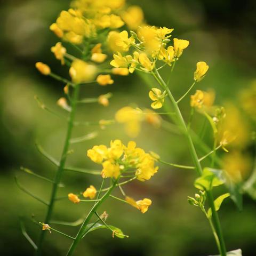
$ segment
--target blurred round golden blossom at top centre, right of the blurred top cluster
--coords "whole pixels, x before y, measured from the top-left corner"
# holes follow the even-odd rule
[[[130,29],[136,30],[144,21],[142,9],[137,5],[132,5],[121,13],[121,17]]]

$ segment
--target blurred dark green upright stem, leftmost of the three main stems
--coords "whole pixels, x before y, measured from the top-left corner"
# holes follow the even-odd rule
[[[70,141],[71,134],[73,131],[73,126],[74,126],[74,118],[75,118],[75,113],[76,113],[76,104],[77,104],[78,94],[79,94],[79,85],[77,84],[74,87],[74,92],[73,92],[73,96],[72,96],[72,100],[71,100],[71,111],[69,114],[66,139],[65,139],[65,143],[63,146],[62,154],[61,154],[60,164],[59,164],[58,170],[55,174],[54,183],[52,186],[50,203],[49,203],[49,206],[47,209],[44,223],[49,223],[51,220],[53,206],[54,206],[55,198],[56,198],[57,191],[58,191],[58,186],[61,181],[62,173],[65,169],[65,163],[66,163],[68,150],[69,150],[69,141]],[[38,242],[37,242],[38,250],[35,251],[36,256],[39,256],[42,254],[42,245],[43,245],[44,237],[45,237],[45,231],[41,230],[41,233],[39,235]]]

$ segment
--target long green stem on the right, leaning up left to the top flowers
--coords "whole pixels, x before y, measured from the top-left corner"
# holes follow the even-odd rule
[[[197,153],[196,153],[196,150],[195,150],[195,147],[194,147],[194,143],[193,143],[193,141],[190,137],[189,131],[187,129],[187,126],[186,126],[186,123],[183,119],[183,116],[180,112],[179,106],[178,106],[177,102],[175,101],[169,87],[163,81],[163,78],[161,77],[161,75],[159,75],[157,69],[155,69],[154,71],[155,71],[155,73],[152,72],[152,75],[155,77],[155,79],[159,83],[159,85],[161,85],[163,87],[163,89],[167,92],[167,95],[168,95],[169,99],[172,102],[174,111],[175,111],[176,116],[177,116],[177,124],[179,125],[181,131],[183,132],[183,134],[187,138],[189,151],[190,151],[191,157],[193,159],[194,165],[196,167],[197,173],[199,175],[202,175],[203,174],[202,166],[201,166],[201,163],[198,159],[198,156],[197,156]],[[208,195],[208,198],[209,198],[210,207],[212,209],[213,225],[215,227],[215,230],[217,232],[217,235],[218,235],[219,241],[220,241],[220,248],[218,248],[218,249],[219,249],[219,252],[220,252],[221,256],[226,256],[227,255],[226,254],[226,246],[225,246],[225,242],[224,242],[224,239],[223,239],[223,236],[222,236],[220,220],[219,220],[218,213],[215,210],[214,200],[213,200],[213,196],[212,196],[211,191],[207,191],[207,195]]]

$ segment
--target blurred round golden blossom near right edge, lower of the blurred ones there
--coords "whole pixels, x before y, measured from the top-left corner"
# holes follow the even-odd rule
[[[243,155],[240,151],[233,151],[225,154],[222,162],[222,169],[231,181],[235,183],[245,180],[251,169],[250,158]]]

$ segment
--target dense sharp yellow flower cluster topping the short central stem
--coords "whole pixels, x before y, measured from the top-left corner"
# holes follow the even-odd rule
[[[110,142],[110,147],[105,145],[94,146],[87,151],[87,156],[98,164],[102,164],[101,175],[103,178],[113,177],[118,179],[121,173],[134,170],[135,177],[140,181],[149,180],[158,170],[155,159],[136,147],[134,141],[123,145],[121,140]]]

